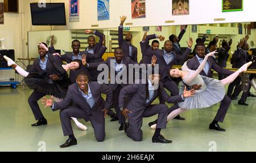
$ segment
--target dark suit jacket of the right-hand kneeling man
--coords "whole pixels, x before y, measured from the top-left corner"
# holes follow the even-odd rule
[[[131,84],[121,89],[119,94],[119,106],[125,107],[126,96],[131,96],[127,109],[136,113],[137,111],[143,111],[144,108],[151,105],[151,103],[159,96],[161,96],[168,103],[177,103],[184,101],[181,95],[169,96],[164,90],[163,83],[159,81],[159,87],[154,91],[153,98],[146,104],[146,84]]]

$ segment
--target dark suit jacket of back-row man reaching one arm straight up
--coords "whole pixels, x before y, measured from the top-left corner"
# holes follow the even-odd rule
[[[118,45],[123,49],[123,57],[131,57],[134,62],[138,63],[137,54],[138,49],[131,45],[131,56],[129,55],[129,44],[123,40],[123,28],[118,27]]]

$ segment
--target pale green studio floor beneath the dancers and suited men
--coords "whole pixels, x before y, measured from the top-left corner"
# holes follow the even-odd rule
[[[78,144],[60,149],[67,137],[61,130],[59,111],[43,109],[48,120],[48,126],[31,127],[35,122],[28,106],[27,98],[32,93],[30,89],[23,91],[22,87],[11,89],[0,87],[0,151],[38,151],[39,142],[46,142],[46,151],[208,151],[210,141],[216,142],[217,151],[256,151],[256,104],[254,97],[249,97],[249,106],[237,105],[232,102],[229,113],[221,127],[226,132],[208,129],[219,105],[208,109],[194,109],[182,114],[185,121],[169,122],[162,134],[172,144],[151,143],[154,131],[147,123],[156,117],[144,118],[143,141],[135,142],[128,138],[123,131],[118,131],[118,123],[106,118],[106,139],[98,143],[94,138],[90,123],[86,123],[88,131],[81,131],[75,125],[73,130]],[[232,114],[230,114],[232,113]],[[81,120],[84,123],[84,120]]]

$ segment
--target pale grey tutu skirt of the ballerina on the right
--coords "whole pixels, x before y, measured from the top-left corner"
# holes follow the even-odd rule
[[[220,80],[202,76],[206,88],[203,92],[195,93],[195,96],[187,97],[183,102],[178,102],[180,108],[183,109],[201,109],[208,108],[222,101],[225,96],[225,88]],[[185,85],[180,83],[179,94],[184,91]]]

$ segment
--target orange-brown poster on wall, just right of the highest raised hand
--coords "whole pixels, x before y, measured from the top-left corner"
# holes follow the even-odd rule
[[[146,18],[146,0],[131,0],[131,18]]]

